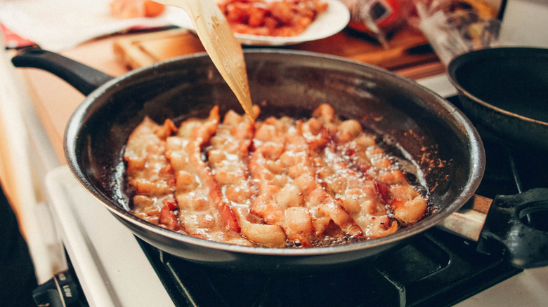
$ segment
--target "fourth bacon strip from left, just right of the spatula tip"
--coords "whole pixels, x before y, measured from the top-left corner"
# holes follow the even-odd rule
[[[255,152],[249,169],[259,184],[252,212],[268,224],[282,226],[288,240],[311,245],[330,221],[351,236],[360,228],[315,180],[309,148],[301,122],[267,118],[255,135]]]

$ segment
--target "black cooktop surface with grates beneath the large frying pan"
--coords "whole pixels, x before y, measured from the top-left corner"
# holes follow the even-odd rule
[[[480,134],[487,165],[478,195],[547,186],[543,153]],[[502,254],[481,254],[476,243],[436,228],[375,261],[310,276],[215,271],[139,242],[176,306],[451,306],[521,272]]]

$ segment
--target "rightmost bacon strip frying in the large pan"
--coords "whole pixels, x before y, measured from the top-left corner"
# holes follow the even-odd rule
[[[327,104],[316,109],[314,115],[321,127],[312,118],[307,124],[313,128],[307,131],[319,130],[323,139],[331,137],[333,143],[322,152],[315,151],[318,178],[367,238],[394,233],[398,223],[391,216],[409,223],[424,215],[426,200],[393,166],[372,135],[363,132],[358,121],[340,121]]]

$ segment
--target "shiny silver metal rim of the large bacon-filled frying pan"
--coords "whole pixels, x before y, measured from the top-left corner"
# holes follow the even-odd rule
[[[469,145],[471,146],[471,160],[474,161],[474,168],[471,168],[471,174],[469,176],[469,179],[467,181],[467,184],[464,186],[464,189],[460,191],[459,196],[452,200],[451,203],[448,203],[441,212],[436,212],[436,216],[439,218],[436,219],[425,219],[422,221],[419,221],[420,225],[417,227],[411,227],[411,228],[404,228],[400,231],[397,231],[396,233],[391,234],[390,236],[386,236],[383,238],[376,238],[372,240],[366,240],[360,243],[351,243],[348,245],[338,245],[335,247],[314,247],[314,248],[275,248],[275,247],[245,247],[245,246],[239,246],[239,245],[230,245],[228,243],[220,243],[220,242],[214,242],[209,240],[204,240],[200,238],[194,238],[192,236],[187,236],[182,233],[176,233],[174,231],[169,231],[165,228],[162,228],[160,226],[157,226],[155,224],[150,224],[147,221],[144,221],[143,219],[140,219],[131,212],[125,210],[123,207],[121,207],[119,204],[115,203],[114,201],[110,200],[107,196],[105,196],[99,189],[96,189],[93,184],[87,179],[84,172],[79,168],[77,164],[77,153],[72,151],[72,148],[74,146],[69,146],[69,142],[75,142],[76,135],[77,135],[77,128],[75,128],[75,125],[79,125],[79,122],[81,122],[81,118],[84,118],[86,114],[86,110],[89,109],[93,105],[93,101],[96,100],[97,97],[105,93],[105,91],[108,88],[111,88],[116,83],[119,83],[119,81],[122,81],[124,79],[131,78],[131,76],[135,74],[141,74],[144,71],[150,71],[152,69],[155,69],[157,67],[160,67],[162,65],[170,64],[171,62],[179,62],[179,61],[185,61],[185,60],[191,60],[196,57],[205,57],[207,56],[207,53],[197,53],[193,55],[183,56],[183,57],[176,57],[174,59],[166,60],[163,62],[158,62],[156,64],[152,64],[149,67],[142,67],[140,69],[135,69],[133,71],[129,71],[126,74],[123,74],[122,76],[118,76],[110,81],[107,81],[102,86],[94,90],[90,95],[88,95],[81,104],[77,107],[77,109],[74,110],[72,116],[70,117],[69,123],[67,124],[67,127],[65,128],[65,156],[67,158],[68,165],[70,166],[70,170],[74,177],[77,178],[77,180],[80,182],[81,185],[86,188],[86,191],[91,193],[92,196],[100,200],[100,203],[103,203],[105,207],[112,213],[115,214],[116,217],[124,219],[124,221],[129,222],[135,226],[138,226],[140,228],[144,228],[147,231],[151,231],[152,233],[158,234],[162,237],[167,237],[171,240],[176,241],[177,243],[181,244],[191,244],[191,245],[197,245],[200,247],[208,247],[208,248],[214,248],[215,250],[222,250],[226,252],[237,252],[242,254],[256,254],[256,255],[264,255],[264,256],[287,256],[287,257],[304,257],[304,256],[315,256],[315,255],[325,255],[325,254],[340,254],[340,253],[346,253],[346,252],[353,252],[358,250],[364,250],[364,249],[370,249],[372,247],[379,247],[382,245],[390,245],[393,243],[401,242],[405,238],[410,238],[411,236],[415,236],[418,233],[422,233],[423,231],[426,231],[426,229],[429,229],[433,226],[436,226],[439,224],[441,219],[448,217],[452,212],[455,212],[459,209],[459,207],[462,207],[464,203],[471,198],[471,196],[474,194],[476,189],[478,188],[479,183],[481,182],[481,179],[483,177],[483,172],[485,170],[485,152],[483,149],[483,143],[481,142],[481,138],[478,135],[478,132],[474,125],[471,124],[469,119],[460,111],[457,109],[454,105],[452,105],[447,100],[443,99],[443,97],[437,95],[432,90],[429,90],[428,88],[424,88],[423,86],[420,86],[419,84],[415,83],[415,81],[412,81],[410,79],[406,79],[403,76],[400,76],[392,71],[388,71],[386,69],[382,69],[381,67],[376,67],[371,64],[366,64],[363,62],[358,62],[355,60],[349,60],[344,57],[338,57],[334,55],[325,55],[320,53],[313,53],[309,51],[301,51],[301,50],[277,50],[277,49],[271,49],[271,48],[257,48],[252,50],[244,50],[244,53],[275,53],[275,54],[294,54],[294,55],[304,55],[304,56],[313,56],[313,57],[322,57],[322,59],[328,59],[328,60],[337,60],[342,62],[347,62],[349,64],[355,64],[360,67],[366,67],[366,69],[372,69],[373,71],[380,72],[381,74],[390,75],[391,77],[395,77],[399,81],[402,81],[403,83],[407,84],[407,86],[418,86],[420,90],[423,90],[426,95],[430,95],[431,97],[436,98],[437,102],[441,104],[441,107],[443,109],[446,109],[450,113],[452,113],[455,117],[457,117],[459,121],[459,125],[464,125],[464,129],[467,132],[467,135],[469,136]]]

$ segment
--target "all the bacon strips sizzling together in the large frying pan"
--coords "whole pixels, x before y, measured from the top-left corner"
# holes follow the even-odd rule
[[[327,104],[307,121],[219,121],[218,107],[179,128],[145,118],[124,153],[135,214],[223,243],[314,247],[388,236],[426,212],[374,137]]]

